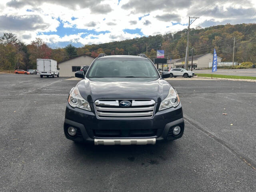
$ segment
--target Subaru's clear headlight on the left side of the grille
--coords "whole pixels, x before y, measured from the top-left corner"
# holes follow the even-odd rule
[[[68,97],[68,103],[72,107],[77,107],[80,109],[91,111],[90,104],[80,95],[77,87],[74,87]]]

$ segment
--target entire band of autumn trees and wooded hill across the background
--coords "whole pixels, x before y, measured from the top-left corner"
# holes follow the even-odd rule
[[[235,61],[256,62],[256,24],[226,24],[190,30],[190,48],[195,54],[213,52],[216,48],[222,61],[232,61],[235,38]],[[183,58],[186,55],[187,29],[176,33],[134,38],[104,44],[85,45],[75,48],[50,48],[40,38],[26,45],[15,34],[5,33],[0,37],[0,70],[36,68],[36,58],[51,58],[61,62],[76,55],[138,55],[145,53],[149,58],[156,57],[156,50],[164,50],[166,58]],[[148,47],[148,49],[147,49]],[[148,50],[148,51],[147,51]],[[189,53],[191,55],[191,51]]]

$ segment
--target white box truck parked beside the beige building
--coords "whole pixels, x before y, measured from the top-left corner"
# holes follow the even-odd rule
[[[57,61],[53,59],[36,59],[37,73],[40,74],[40,77],[59,77],[60,72],[57,69]]]

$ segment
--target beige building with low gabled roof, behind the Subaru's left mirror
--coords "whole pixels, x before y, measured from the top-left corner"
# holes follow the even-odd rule
[[[95,58],[92,56],[88,56],[86,54],[73,57],[71,59],[62,61],[58,64],[60,69],[60,76],[61,77],[74,77],[75,72],[79,71],[82,66],[88,65],[93,62]]]

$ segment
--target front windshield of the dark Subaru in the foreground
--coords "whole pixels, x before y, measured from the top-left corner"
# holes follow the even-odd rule
[[[134,77],[158,78],[156,68],[149,60],[142,59],[99,59],[94,62],[90,77]]]

